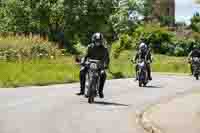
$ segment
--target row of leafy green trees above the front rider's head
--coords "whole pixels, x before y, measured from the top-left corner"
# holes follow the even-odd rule
[[[129,13],[149,13],[149,0],[6,0],[0,1],[0,32],[33,33],[70,45],[89,42],[93,32],[103,32],[108,41],[135,25]],[[131,29],[132,30],[132,29]]]

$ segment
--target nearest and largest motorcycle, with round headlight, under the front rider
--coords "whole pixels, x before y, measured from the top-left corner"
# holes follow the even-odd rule
[[[98,95],[100,85],[100,61],[87,61],[88,71],[86,74],[86,91],[85,95],[88,97],[88,103],[94,103],[94,98]]]

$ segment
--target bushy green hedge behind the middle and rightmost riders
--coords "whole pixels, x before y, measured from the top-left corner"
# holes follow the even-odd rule
[[[141,25],[132,34],[123,34],[119,41],[114,43],[115,57],[118,57],[122,50],[130,48],[137,49],[144,38],[150,45],[152,51],[158,54],[170,56],[187,56],[193,46],[200,47],[200,34],[193,32],[188,37],[177,37],[175,32],[159,25]]]

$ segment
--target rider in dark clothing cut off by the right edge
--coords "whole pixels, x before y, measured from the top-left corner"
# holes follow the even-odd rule
[[[200,48],[198,48],[197,46],[195,46],[193,48],[193,50],[188,55],[188,62],[190,63],[190,69],[191,69],[192,74],[194,72],[193,71],[192,58],[194,58],[194,57],[200,58]]]

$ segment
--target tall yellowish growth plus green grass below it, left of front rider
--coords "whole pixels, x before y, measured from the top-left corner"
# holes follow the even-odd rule
[[[39,36],[0,36],[0,87],[69,83],[78,75],[73,57],[61,56],[55,44]]]

